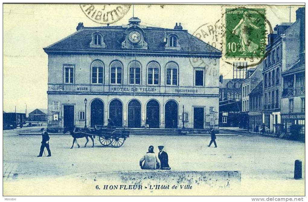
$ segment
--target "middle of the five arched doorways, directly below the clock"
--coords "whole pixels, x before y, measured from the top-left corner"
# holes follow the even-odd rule
[[[128,127],[141,127],[141,104],[136,99],[133,99],[128,103]]]

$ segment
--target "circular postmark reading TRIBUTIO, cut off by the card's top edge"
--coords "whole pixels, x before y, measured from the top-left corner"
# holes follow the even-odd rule
[[[122,19],[129,11],[130,4],[80,4],[83,13],[92,21],[112,24]]]

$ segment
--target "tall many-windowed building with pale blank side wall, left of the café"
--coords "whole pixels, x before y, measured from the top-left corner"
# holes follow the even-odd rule
[[[305,13],[305,8],[299,8]],[[281,73],[294,66],[299,60],[300,50],[300,22],[305,20],[305,14],[294,23],[281,23],[276,25],[274,32],[268,35],[266,46],[266,59],[263,70],[263,122],[276,133],[276,128],[281,123]],[[299,19],[302,20],[299,20]],[[305,28],[304,28],[305,30]],[[304,42],[303,42],[304,43]]]

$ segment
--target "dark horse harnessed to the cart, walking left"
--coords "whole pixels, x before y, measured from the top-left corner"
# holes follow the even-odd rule
[[[63,133],[66,133],[67,131],[70,131],[70,134],[71,136],[74,138],[73,139],[73,145],[71,146],[71,149],[74,147],[74,143],[76,141],[77,145],[78,145],[78,148],[80,148],[78,142],[77,142],[77,139],[78,138],[86,138],[87,139],[87,142],[86,144],[84,145],[84,147],[87,147],[87,143],[89,142],[89,138],[91,138],[92,140],[92,147],[94,147],[94,139],[93,137],[95,137],[95,135],[92,135],[90,132],[90,129],[87,129],[87,128],[84,128],[84,129],[80,129],[80,128],[77,128],[76,126],[74,127],[65,127],[64,130],[63,130]]]

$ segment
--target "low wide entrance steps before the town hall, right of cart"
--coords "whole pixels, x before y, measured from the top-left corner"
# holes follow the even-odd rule
[[[129,135],[182,135],[181,129],[130,128]]]

